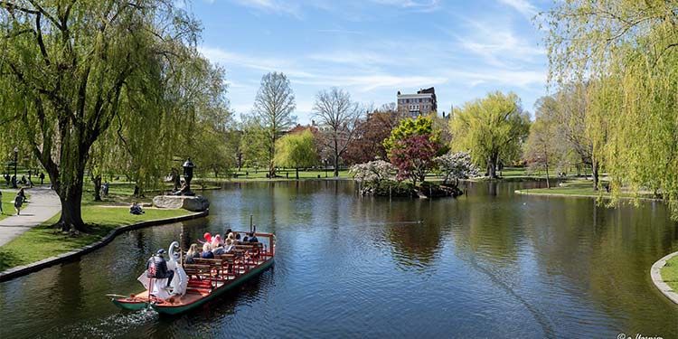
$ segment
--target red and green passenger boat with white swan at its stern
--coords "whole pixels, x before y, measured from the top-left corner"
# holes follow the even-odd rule
[[[244,233],[244,232],[240,232]],[[176,315],[200,306],[213,297],[237,287],[273,264],[274,235],[255,233],[259,241],[236,245],[232,253],[216,255],[215,259],[193,259],[194,264],[181,264],[174,250],[179,243],[169,246],[167,269],[174,270],[171,288],[166,278],[147,278],[148,269],[137,278],[146,290],[130,296],[107,295],[116,306],[137,311],[150,306],[160,314]]]

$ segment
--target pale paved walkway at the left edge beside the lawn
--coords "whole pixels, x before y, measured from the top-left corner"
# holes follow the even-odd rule
[[[36,186],[25,191],[31,195],[31,199],[30,203],[24,204],[21,215],[15,215],[14,208],[11,211],[3,211],[5,214],[12,213],[13,215],[0,221],[0,246],[61,212],[59,196],[49,187]],[[3,191],[5,201],[12,201],[14,196],[16,196],[16,190]]]

